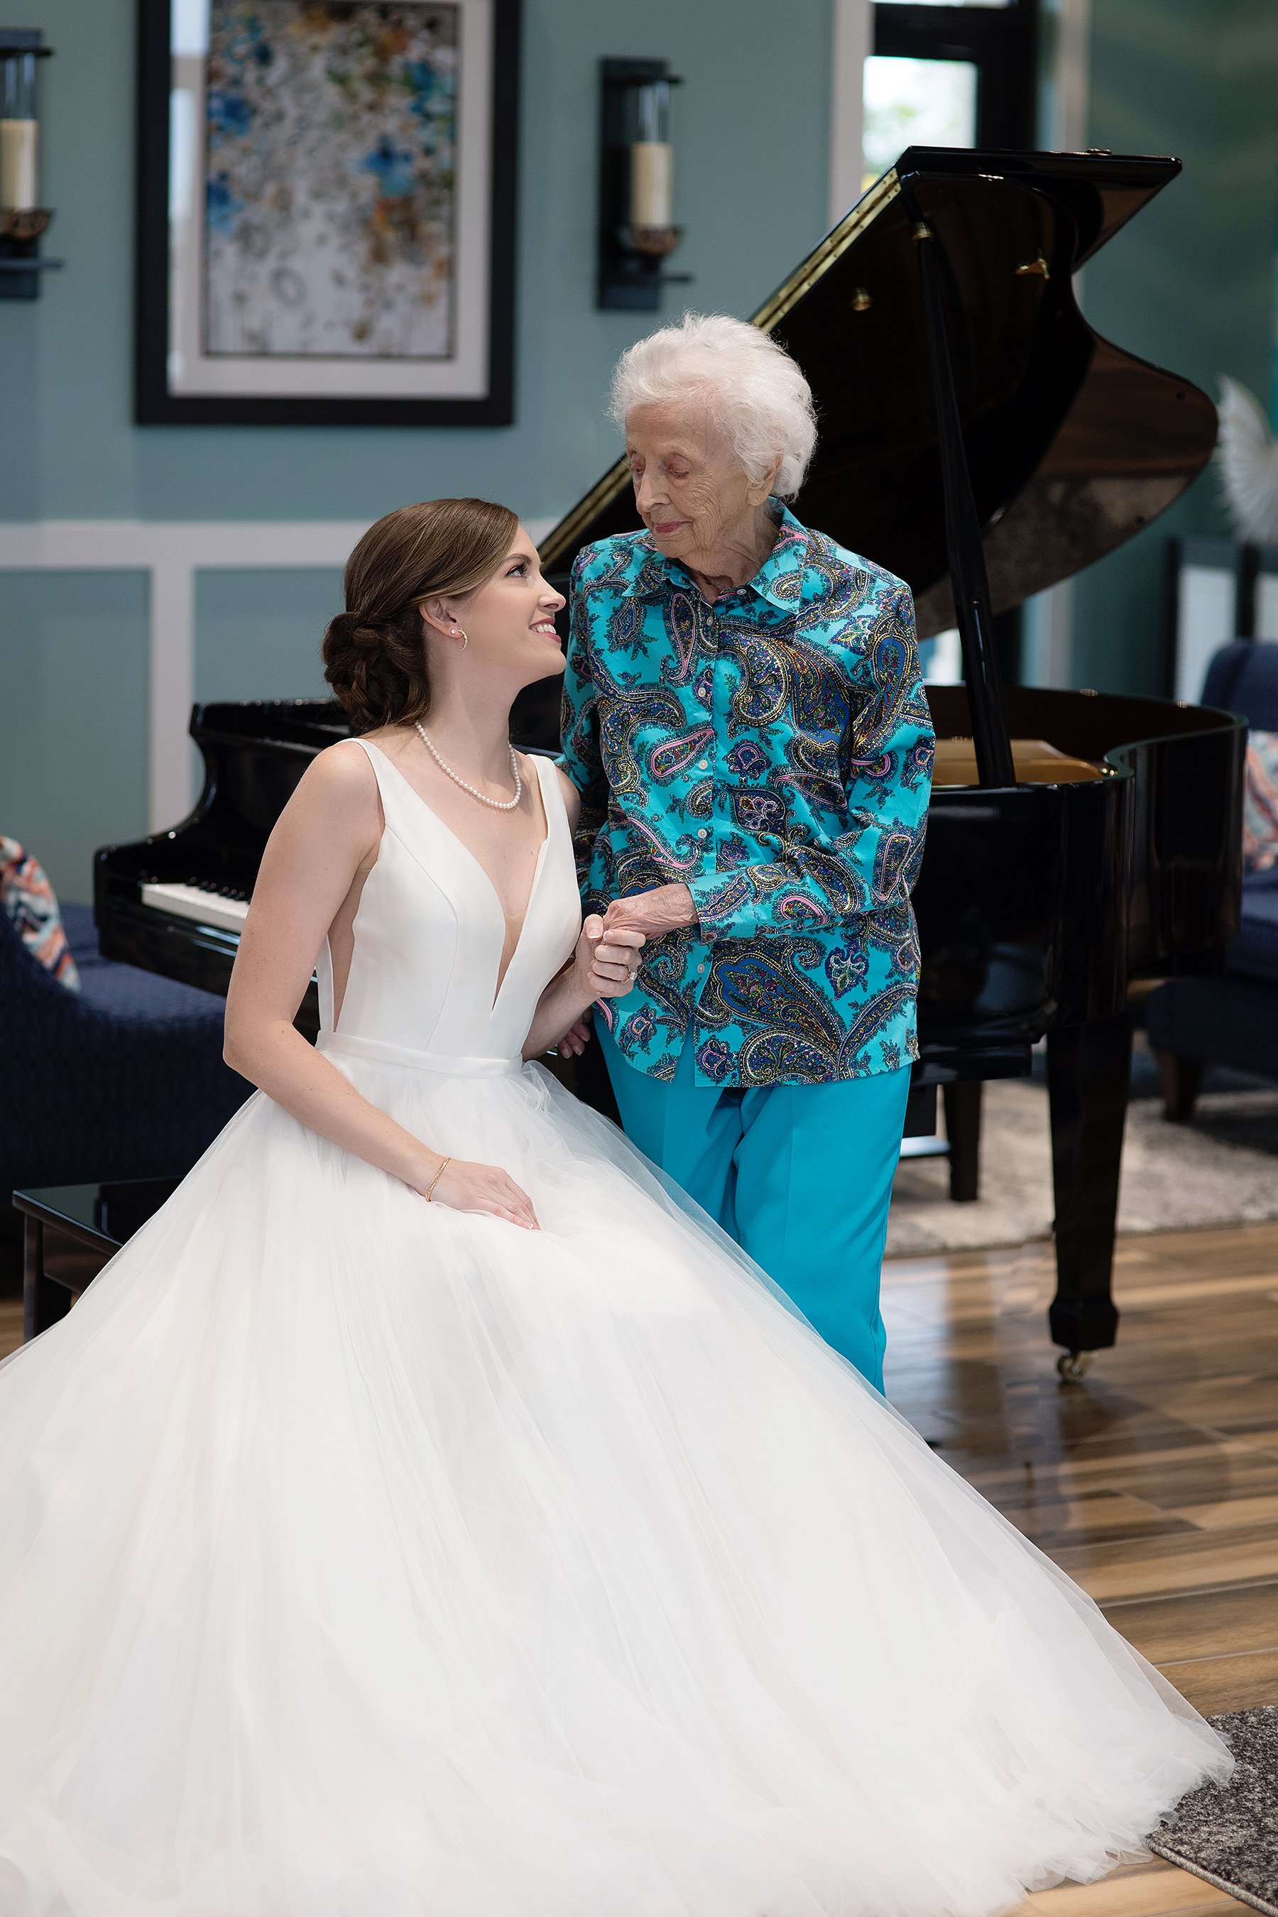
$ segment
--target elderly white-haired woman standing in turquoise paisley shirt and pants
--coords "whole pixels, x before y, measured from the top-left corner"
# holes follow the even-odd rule
[[[782,504],[812,395],[757,328],[642,339],[613,416],[644,531],[577,558],[563,723],[586,911],[648,939],[598,1020],[609,1077],[636,1144],[881,1390],[933,750],[910,590]]]

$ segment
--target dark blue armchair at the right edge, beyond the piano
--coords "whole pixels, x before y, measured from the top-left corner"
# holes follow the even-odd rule
[[[1278,644],[1234,638],[1222,646],[1207,667],[1203,705],[1278,732]],[[1171,1120],[1192,1118],[1203,1066],[1278,1079],[1278,866],[1244,878],[1242,924],[1224,972],[1159,985],[1146,1024]]]

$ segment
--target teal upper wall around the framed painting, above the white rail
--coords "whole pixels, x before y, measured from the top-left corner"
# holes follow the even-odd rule
[[[48,79],[48,249],[33,307],[0,303],[6,520],[374,520],[439,493],[558,516],[615,456],[602,401],[648,314],[596,312],[602,54],[663,54],[676,102],[669,307],[747,312],[826,228],[830,0],[525,0],[517,418],[510,427],[136,427],[134,0],[25,0]],[[13,408],[13,410],[11,410]]]

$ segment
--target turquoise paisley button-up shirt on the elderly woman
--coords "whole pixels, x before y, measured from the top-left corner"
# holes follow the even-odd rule
[[[623,1054],[701,1085],[822,1083],[918,1056],[933,734],[910,589],[774,502],[776,546],[707,604],[648,533],[573,566],[563,767],[586,911],[682,880],[697,924],[604,1005]]]

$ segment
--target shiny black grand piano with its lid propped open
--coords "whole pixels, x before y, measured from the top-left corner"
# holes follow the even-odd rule
[[[1163,512],[1215,443],[1211,401],[1100,339],[1073,272],[1178,173],[1173,159],[910,148],[755,324],[809,376],[822,437],[799,518],[904,577],[920,636],[958,625],[916,889],[924,951],[914,1106],[1025,1074],[1046,1037],[1063,1376],[1111,1346],[1129,983],[1213,970],[1238,924],[1245,734],[1163,700],[1002,684],[998,615]],[[542,543],[628,531],[619,462]],[[102,949],[224,991],[262,843],[324,702],[203,705],[192,817],[98,853]],[[558,686],[515,709],[554,748]],[[303,1006],[314,1026],[316,1006]],[[958,1097],[950,1120],[971,1118]]]

